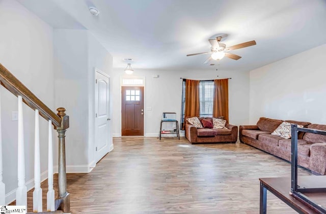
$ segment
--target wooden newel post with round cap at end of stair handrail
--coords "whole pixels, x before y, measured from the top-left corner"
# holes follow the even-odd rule
[[[61,127],[57,128],[59,138],[59,209],[63,212],[70,212],[70,196],[67,192],[67,179],[66,179],[66,149],[65,149],[65,133],[69,128],[69,116],[66,115],[65,108],[58,108],[57,115],[61,117]]]

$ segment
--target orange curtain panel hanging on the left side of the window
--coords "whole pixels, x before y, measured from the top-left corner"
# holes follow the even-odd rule
[[[185,118],[187,116],[199,117],[199,80],[185,80],[184,123],[182,130],[185,128]]]

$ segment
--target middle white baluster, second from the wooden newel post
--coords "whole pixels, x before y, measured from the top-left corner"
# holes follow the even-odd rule
[[[33,212],[42,212],[39,110],[35,110]]]

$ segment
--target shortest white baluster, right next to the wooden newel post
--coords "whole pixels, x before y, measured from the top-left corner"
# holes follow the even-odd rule
[[[53,152],[52,152],[52,121],[49,120],[48,125],[48,192],[46,194],[47,200],[47,211],[55,211],[55,190],[53,190]]]

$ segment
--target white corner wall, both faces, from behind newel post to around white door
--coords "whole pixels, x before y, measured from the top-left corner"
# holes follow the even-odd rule
[[[67,109],[67,172],[95,166],[95,68],[110,75],[112,56],[88,30],[55,29],[56,106]],[[113,148],[112,139],[110,147]]]

